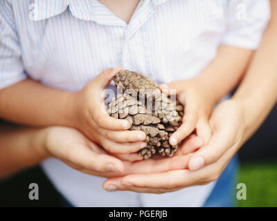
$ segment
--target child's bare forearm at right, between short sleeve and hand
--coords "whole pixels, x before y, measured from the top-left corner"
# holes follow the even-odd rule
[[[249,66],[253,51],[222,45],[211,64],[195,79],[205,92],[206,99],[215,104],[227,95],[242,79]]]

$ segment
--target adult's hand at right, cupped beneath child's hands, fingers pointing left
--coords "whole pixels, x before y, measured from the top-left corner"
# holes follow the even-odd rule
[[[242,107],[231,99],[226,100],[215,108],[210,123],[213,129],[211,140],[190,154],[188,169],[111,177],[103,183],[103,187],[107,189],[112,185],[119,191],[166,193],[217,180],[242,146],[245,131]]]

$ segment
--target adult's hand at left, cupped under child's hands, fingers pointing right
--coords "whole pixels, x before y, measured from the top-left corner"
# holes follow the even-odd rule
[[[134,173],[159,173],[188,168],[188,155],[162,160],[127,162],[109,155],[103,148],[91,142],[73,128],[62,126],[39,130],[39,153],[45,157],[56,157],[82,173],[100,177],[118,177]],[[42,143],[42,144],[41,144]],[[44,157],[44,158],[45,158]],[[111,186],[107,191],[113,190]]]

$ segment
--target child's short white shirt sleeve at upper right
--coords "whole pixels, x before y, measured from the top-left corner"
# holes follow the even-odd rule
[[[256,50],[269,19],[268,0],[229,0],[222,44]]]

